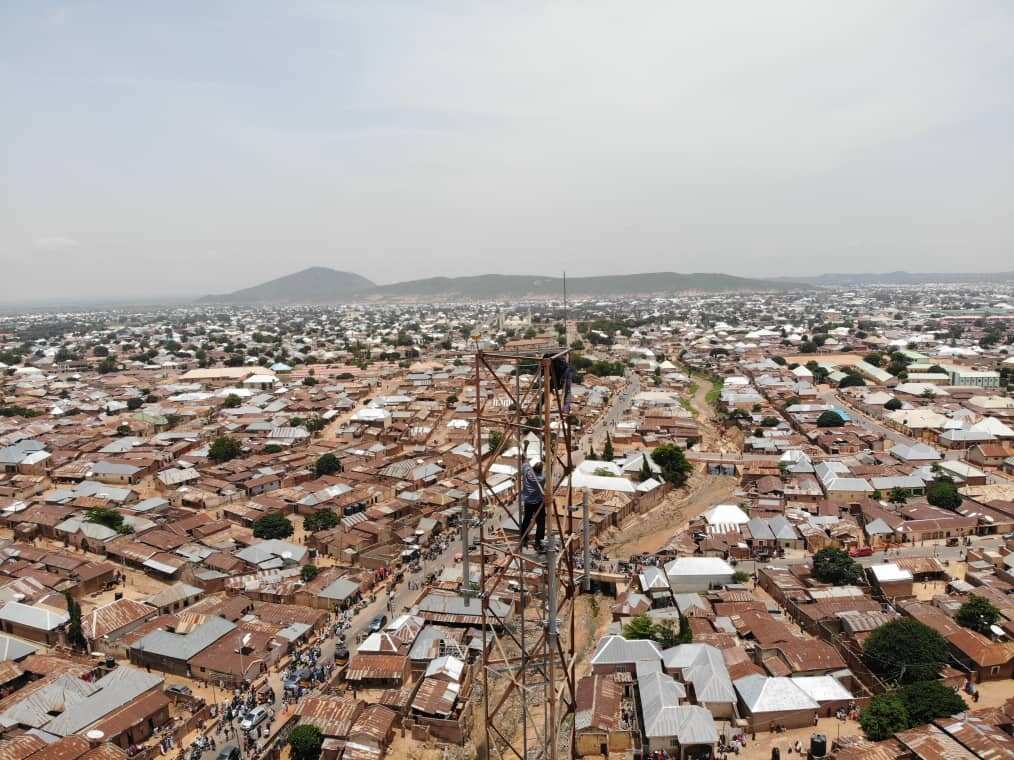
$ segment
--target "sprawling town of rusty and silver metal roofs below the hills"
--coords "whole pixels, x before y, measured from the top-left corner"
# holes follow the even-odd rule
[[[666,277],[0,314],[0,760],[1014,758],[1014,283]]]

